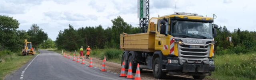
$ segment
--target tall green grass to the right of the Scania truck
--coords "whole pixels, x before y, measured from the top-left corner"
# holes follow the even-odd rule
[[[216,55],[214,60],[215,71],[207,78],[256,80],[256,52]]]

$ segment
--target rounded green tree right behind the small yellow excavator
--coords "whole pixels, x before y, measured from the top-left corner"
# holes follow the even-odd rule
[[[30,30],[28,30],[28,35],[31,36],[28,38],[28,41],[32,42],[34,48],[38,48],[37,46],[39,44],[48,39],[48,34],[44,32],[43,29],[39,28],[37,24],[32,24]]]

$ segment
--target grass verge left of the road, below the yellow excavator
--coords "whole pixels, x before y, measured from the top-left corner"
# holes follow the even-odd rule
[[[22,65],[26,64],[28,60],[33,58],[32,55],[22,56],[19,52],[5,54],[1,51],[0,54],[4,54],[0,57],[0,80],[3,80],[4,76],[17,70]]]

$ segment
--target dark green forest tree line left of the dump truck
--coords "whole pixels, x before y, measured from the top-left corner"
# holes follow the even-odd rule
[[[138,27],[124,22],[120,16],[111,20],[113,25],[106,29],[99,26],[86,26],[74,29],[69,25],[68,29],[60,31],[56,38],[56,46],[58,49],[76,50],[81,46],[90,46],[91,48],[119,48],[120,38],[122,32],[128,34],[135,34],[139,32]]]

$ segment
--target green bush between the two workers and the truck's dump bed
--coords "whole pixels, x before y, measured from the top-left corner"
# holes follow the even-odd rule
[[[121,58],[122,50],[120,49],[107,49],[104,51],[104,55],[106,56],[106,59],[116,59]],[[104,58],[104,56],[102,57]]]

